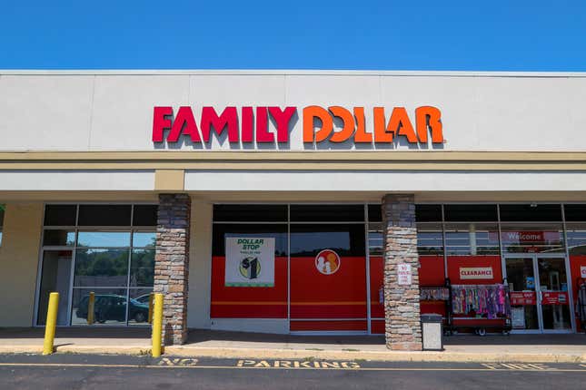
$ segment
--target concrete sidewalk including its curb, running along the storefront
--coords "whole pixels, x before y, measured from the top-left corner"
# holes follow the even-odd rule
[[[0,353],[40,353],[42,328],[0,329]],[[293,336],[192,330],[184,346],[166,346],[169,356],[321,358],[337,360],[586,363],[586,336],[448,336],[442,352],[389,351],[382,336]],[[58,328],[57,352],[146,354],[149,328]]]

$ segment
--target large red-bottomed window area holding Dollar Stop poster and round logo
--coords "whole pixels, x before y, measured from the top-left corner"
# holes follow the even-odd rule
[[[368,212],[364,205],[215,205],[213,323],[271,318],[290,331],[366,330],[367,214],[376,219],[370,239],[380,253],[380,206]],[[248,248],[267,241],[273,256]],[[382,257],[372,259],[380,276],[376,299]]]

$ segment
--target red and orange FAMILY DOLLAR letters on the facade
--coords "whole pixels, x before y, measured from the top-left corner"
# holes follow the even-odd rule
[[[303,143],[345,142],[392,143],[403,139],[410,144],[444,142],[442,112],[433,106],[415,108],[410,114],[404,107],[386,110],[374,107],[225,107],[217,112],[214,107],[194,110],[190,106],[154,107],[153,142],[174,143],[188,137],[192,142],[208,142],[216,136],[227,137],[230,143],[285,143],[289,141],[293,122],[301,115]],[[372,129],[366,128],[371,116]],[[273,122],[276,132],[269,131]],[[334,131],[341,123],[341,129]]]

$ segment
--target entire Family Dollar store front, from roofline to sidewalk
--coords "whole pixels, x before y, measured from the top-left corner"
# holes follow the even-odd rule
[[[0,74],[2,327],[581,331],[586,76]]]

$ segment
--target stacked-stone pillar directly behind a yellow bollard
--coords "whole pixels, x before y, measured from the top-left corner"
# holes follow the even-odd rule
[[[187,340],[187,288],[191,199],[160,194],[154,257],[154,292],[164,294],[164,344]]]

